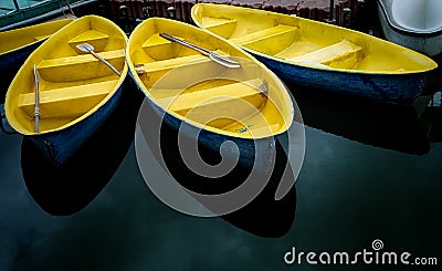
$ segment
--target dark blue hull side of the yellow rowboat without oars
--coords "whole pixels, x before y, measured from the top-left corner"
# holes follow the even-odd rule
[[[346,73],[293,65],[251,52],[288,85],[302,85],[376,102],[411,104],[424,90],[425,74]]]

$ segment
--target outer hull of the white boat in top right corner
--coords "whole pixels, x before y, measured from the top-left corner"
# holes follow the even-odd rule
[[[378,0],[379,20],[386,39],[429,56],[441,54],[442,28],[439,31],[418,32],[401,27],[394,21],[391,14],[391,2],[392,1]]]

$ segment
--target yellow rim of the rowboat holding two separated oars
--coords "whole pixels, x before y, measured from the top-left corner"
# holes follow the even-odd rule
[[[61,35],[60,33],[63,33],[63,31],[65,31],[65,29],[73,28],[72,25],[74,25],[74,24],[76,24],[76,23],[84,23],[83,21],[88,21],[87,24],[90,24],[90,23],[91,23],[91,22],[90,22],[91,20],[101,20],[101,21],[104,21],[104,22],[106,23],[106,25],[114,28],[114,29],[116,30],[115,33],[116,33],[116,34],[119,33],[120,37],[124,39],[125,44],[127,45],[128,38],[127,38],[126,33],[125,33],[117,24],[115,24],[113,21],[110,21],[110,20],[108,20],[108,19],[106,19],[106,18],[104,18],[104,17],[98,17],[98,15],[94,15],[94,14],[84,15],[84,17],[78,18],[78,19],[74,20],[73,22],[71,22],[71,23],[69,23],[69,24],[66,24],[66,25],[64,25],[64,27],[63,27],[62,29],[60,29],[56,33],[54,33],[54,34],[51,35],[49,39],[46,39],[38,49],[35,49],[35,50],[29,55],[29,58],[28,58],[27,61],[23,63],[23,65],[20,67],[19,72],[18,72],[17,74],[20,74],[20,73],[21,73],[21,70],[25,66],[25,64],[27,64],[29,61],[32,60],[32,56],[33,56],[34,54],[36,54],[36,53],[40,52],[41,48],[44,48],[44,44],[45,44],[48,41],[50,41],[51,38]],[[125,49],[125,48],[122,48],[122,50],[124,50],[124,49]],[[126,51],[124,51],[124,52],[126,52]],[[4,107],[6,107],[6,115],[7,115],[7,117],[8,117],[8,115],[10,115],[10,116],[13,117],[14,122],[9,122],[9,123],[10,123],[10,125],[11,125],[12,128],[14,128],[17,132],[19,132],[19,133],[22,134],[22,135],[40,136],[40,135],[45,135],[45,134],[51,134],[51,133],[61,132],[61,131],[63,131],[63,129],[65,129],[65,128],[75,126],[76,124],[81,123],[83,119],[88,118],[90,116],[92,116],[92,115],[93,115],[95,112],[97,112],[101,107],[103,107],[103,106],[114,96],[114,94],[116,94],[116,93],[122,88],[122,85],[123,85],[123,83],[124,83],[125,80],[126,80],[127,73],[128,73],[128,65],[127,65],[127,62],[124,61],[124,67],[123,67],[123,71],[122,71],[122,75],[119,76],[119,79],[118,79],[117,83],[115,84],[115,86],[113,87],[113,90],[109,91],[109,93],[108,93],[102,101],[99,101],[99,103],[97,103],[95,106],[93,106],[90,111],[85,112],[85,113],[82,114],[81,116],[75,117],[73,121],[70,121],[69,123],[66,123],[66,124],[64,124],[64,125],[61,125],[61,126],[59,126],[59,127],[56,127],[56,128],[51,128],[51,129],[42,131],[42,132],[40,132],[40,133],[35,133],[35,132],[33,132],[33,131],[27,129],[27,128],[25,128],[23,125],[21,125],[21,124],[20,124],[20,125],[17,125],[17,124],[15,124],[17,118],[13,116],[13,115],[14,115],[13,112],[12,112],[13,108],[11,108],[11,106],[15,107],[17,105],[4,106]],[[13,85],[13,83],[15,82],[15,80],[18,80],[18,76],[17,76],[17,75],[15,75],[15,77],[13,79],[13,81],[11,82],[10,87]],[[8,87],[7,96],[6,96],[6,100],[4,100],[4,105],[7,105],[7,103],[8,103],[8,104],[10,103],[10,101],[9,101],[9,100],[10,100],[10,96],[11,96],[10,87]],[[15,94],[15,92],[14,92],[14,94]],[[17,123],[20,123],[20,122],[17,122]]]

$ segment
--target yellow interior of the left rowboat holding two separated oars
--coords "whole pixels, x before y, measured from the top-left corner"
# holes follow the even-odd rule
[[[78,52],[75,44],[84,42],[122,76],[90,53]],[[53,34],[28,58],[9,86],[4,108],[10,125],[21,134],[34,134],[34,64],[40,80],[40,134],[63,129],[94,113],[127,74],[126,43],[126,34],[114,22],[96,15],[76,19]]]

